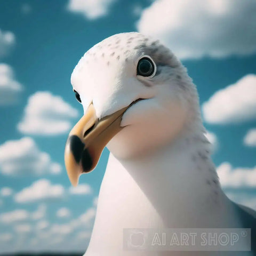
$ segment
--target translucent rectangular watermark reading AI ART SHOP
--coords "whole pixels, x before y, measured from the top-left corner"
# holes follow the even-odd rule
[[[127,228],[127,251],[251,251],[250,228]]]

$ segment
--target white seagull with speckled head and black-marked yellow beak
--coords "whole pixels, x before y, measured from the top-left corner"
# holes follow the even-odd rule
[[[71,84],[84,109],[65,148],[72,185],[110,151],[84,255],[256,255],[256,212],[223,193],[196,86],[171,50],[136,32],[110,36]],[[124,250],[127,228],[251,228],[251,251]]]

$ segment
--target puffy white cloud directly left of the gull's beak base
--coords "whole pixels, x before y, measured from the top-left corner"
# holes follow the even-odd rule
[[[18,130],[25,134],[63,134],[70,130],[71,119],[77,116],[78,111],[60,96],[50,92],[36,92],[28,99]]]

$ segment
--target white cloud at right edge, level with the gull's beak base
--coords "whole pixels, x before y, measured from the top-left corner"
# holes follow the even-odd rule
[[[255,16],[256,17],[256,16]],[[256,118],[256,75],[246,75],[203,103],[206,122],[239,123]]]

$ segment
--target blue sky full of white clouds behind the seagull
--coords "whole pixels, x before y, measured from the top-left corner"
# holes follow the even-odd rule
[[[89,2],[0,1],[0,253],[85,251],[108,150],[72,189],[63,151],[83,111],[70,75],[95,43],[127,31],[162,39],[182,59],[222,186],[256,209],[255,2]]]

